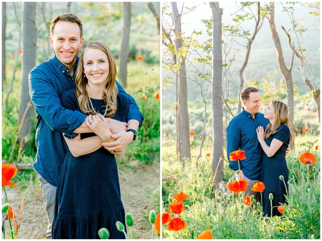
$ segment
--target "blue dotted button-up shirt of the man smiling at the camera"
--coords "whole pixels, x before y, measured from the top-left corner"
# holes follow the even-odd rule
[[[68,68],[53,53],[52,58],[40,63],[29,73],[29,94],[36,109],[36,147],[37,155],[33,167],[50,184],[57,186],[62,163],[64,162],[67,144],[62,132],[69,139],[78,134],[73,131],[85,120],[86,115],[79,111],[71,111],[62,107],[62,93],[75,88],[75,73],[79,58],[71,77]],[[125,93],[115,80],[118,92],[128,97],[128,120],[143,122],[135,100]]]

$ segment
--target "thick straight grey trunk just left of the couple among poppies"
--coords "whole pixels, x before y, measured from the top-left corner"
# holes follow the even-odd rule
[[[213,16],[213,71],[212,71],[212,109],[213,109],[213,163],[211,168],[213,186],[223,180],[223,100],[222,100],[222,14],[218,2],[210,2]],[[218,169],[217,169],[218,165]],[[216,173],[217,169],[217,173]],[[215,174],[216,173],[216,174]]]

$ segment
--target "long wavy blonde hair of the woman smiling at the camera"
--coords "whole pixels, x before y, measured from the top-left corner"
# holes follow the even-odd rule
[[[88,80],[84,77],[84,53],[88,49],[99,49],[107,55],[107,59],[109,61],[109,75],[105,81],[105,88],[103,99],[108,106],[105,117],[113,117],[115,115],[115,111],[117,109],[117,95],[118,95],[118,87],[115,84],[116,77],[116,65],[115,60],[112,55],[112,52],[109,50],[109,47],[100,41],[90,42],[85,46],[81,53],[81,57],[78,62],[75,84],[76,84],[76,97],[78,100],[78,104],[81,108],[81,111],[86,113],[87,115],[95,115],[96,113],[90,108],[89,96],[86,91],[86,85]],[[105,106],[106,107],[106,106]]]

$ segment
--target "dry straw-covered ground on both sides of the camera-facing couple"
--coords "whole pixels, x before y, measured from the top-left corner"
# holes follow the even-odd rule
[[[133,228],[137,230],[136,239],[151,238],[151,225],[147,220],[151,209],[156,213],[155,189],[160,190],[160,163],[153,162],[149,166],[137,166],[135,170],[122,167],[119,169],[121,197],[125,213],[132,213]],[[43,194],[39,185],[31,182],[28,188],[18,192],[18,188],[8,188],[8,199],[14,205],[25,197],[24,210],[17,238],[43,239],[48,221],[44,210]],[[14,206],[15,207],[15,206]],[[9,222],[5,221],[5,230],[9,230]]]

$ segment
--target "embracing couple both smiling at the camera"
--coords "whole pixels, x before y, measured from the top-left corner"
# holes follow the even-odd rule
[[[115,80],[105,43],[90,42],[78,57],[84,38],[77,16],[56,16],[50,30],[52,58],[29,74],[46,236],[96,239],[105,227],[110,238],[125,238],[115,226],[125,226],[115,155],[135,140],[143,116]]]

